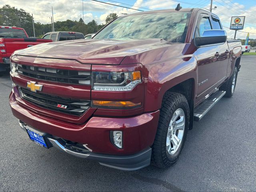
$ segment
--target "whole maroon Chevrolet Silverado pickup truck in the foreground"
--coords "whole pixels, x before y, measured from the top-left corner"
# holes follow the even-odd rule
[[[15,51],[10,106],[45,148],[122,170],[168,168],[193,120],[234,94],[241,54],[206,10],[129,14],[93,39]]]

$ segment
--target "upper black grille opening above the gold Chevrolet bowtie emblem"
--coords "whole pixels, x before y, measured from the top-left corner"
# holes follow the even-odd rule
[[[63,70],[18,64],[18,73],[39,80],[90,85],[89,71]]]

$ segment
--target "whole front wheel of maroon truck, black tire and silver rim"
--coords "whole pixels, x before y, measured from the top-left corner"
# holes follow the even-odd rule
[[[170,167],[178,160],[188,132],[189,106],[186,97],[175,92],[164,95],[156,137],[152,146],[152,164]]]

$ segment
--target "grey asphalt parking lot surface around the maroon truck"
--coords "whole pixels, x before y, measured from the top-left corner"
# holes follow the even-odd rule
[[[256,191],[256,56],[242,56],[235,94],[194,128],[168,170],[125,172],[29,140],[0,77],[0,191]]]

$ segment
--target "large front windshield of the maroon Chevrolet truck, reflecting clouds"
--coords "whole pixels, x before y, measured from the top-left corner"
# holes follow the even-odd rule
[[[164,12],[119,17],[94,39],[161,38],[185,42],[190,12]]]

